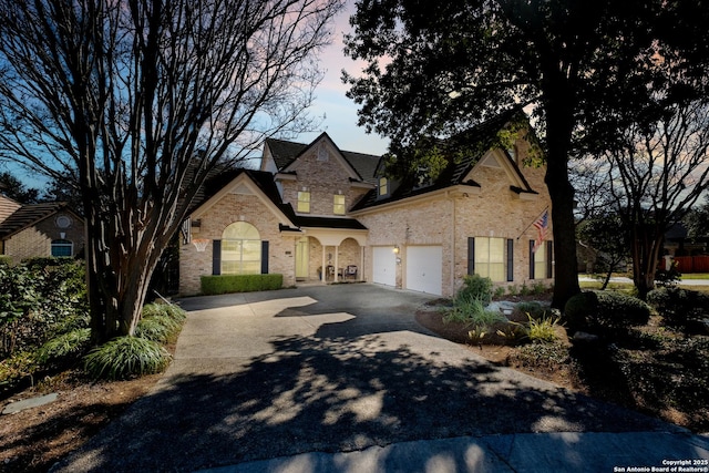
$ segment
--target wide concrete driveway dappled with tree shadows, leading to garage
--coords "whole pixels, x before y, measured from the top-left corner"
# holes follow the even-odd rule
[[[52,470],[599,472],[709,460],[703,436],[433,336],[413,317],[428,299],[367,284],[185,299],[156,389]]]

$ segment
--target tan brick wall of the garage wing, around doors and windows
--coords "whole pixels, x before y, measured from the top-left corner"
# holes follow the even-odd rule
[[[520,161],[525,157],[526,150],[526,146],[518,146]],[[536,237],[532,224],[551,206],[551,200],[544,184],[544,168],[521,166],[521,171],[530,186],[540,193],[535,199],[522,199],[510,191],[511,181],[503,168],[479,166],[471,175],[481,185],[477,194],[442,194],[358,216],[370,230],[364,264],[367,278],[371,280],[372,246],[400,246],[402,264],[397,265],[397,285],[405,287],[407,246],[440,245],[442,292],[452,296],[467,274],[467,238],[497,237],[514,241],[514,280],[510,284],[528,285],[530,240]],[[551,238],[549,222],[547,239]]]

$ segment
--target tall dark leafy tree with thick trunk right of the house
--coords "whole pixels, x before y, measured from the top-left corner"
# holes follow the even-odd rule
[[[562,307],[579,290],[569,155],[606,116],[623,123],[645,103],[653,56],[671,49],[706,59],[698,19],[707,13],[685,3],[359,0],[346,51],[367,66],[345,81],[360,123],[390,136],[400,158],[421,136],[455,136],[501,111],[532,107],[553,203],[553,304]],[[686,21],[680,7],[693,17]],[[604,138],[616,137],[614,126],[603,127]]]

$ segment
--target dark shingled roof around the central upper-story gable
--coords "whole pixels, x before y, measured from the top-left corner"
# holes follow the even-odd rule
[[[292,143],[282,140],[267,138],[266,145],[270,150],[274,163],[278,172],[282,172],[288,168],[296,160],[307,153],[316,143],[322,138],[329,141],[330,145],[342,156],[346,163],[359,175],[360,179],[373,184],[376,183],[377,164],[379,163],[379,156],[374,156],[366,153],[356,153],[352,151],[340,150],[332,138],[327,133],[320,134],[310,144]]]

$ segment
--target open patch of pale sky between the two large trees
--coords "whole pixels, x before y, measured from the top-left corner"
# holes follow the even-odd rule
[[[310,143],[320,133],[327,132],[335,144],[342,151],[353,151],[381,155],[387,152],[389,141],[372,133],[367,134],[363,127],[357,126],[358,105],[345,96],[348,86],[340,80],[341,71],[359,75],[363,62],[354,62],[342,52],[342,38],[351,31],[350,16],[354,13],[354,0],[348,0],[347,6],[337,17],[333,27],[332,43],[320,55],[321,68],[326,70],[322,82],[316,89],[316,100],[309,113],[312,116],[326,116],[318,131],[294,138],[300,143]]]

